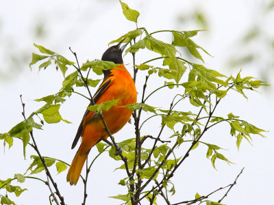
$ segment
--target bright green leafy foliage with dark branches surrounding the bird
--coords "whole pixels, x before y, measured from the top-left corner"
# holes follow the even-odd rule
[[[126,3],[120,2],[125,17],[136,23],[137,26],[139,12],[130,9]],[[147,59],[142,64],[134,65],[134,77],[136,77],[137,71],[147,75],[143,90],[139,91],[142,94],[140,102],[125,106],[127,109],[134,111],[135,131],[132,131],[132,133],[135,133],[136,136],[119,143],[112,141],[114,143],[112,147],[102,142],[97,143],[99,154],[92,161],[93,163],[103,152],[108,152],[109,156],[114,160],[122,162],[117,162],[118,166],[116,169],[125,170],[126,176],[119,180],[119,185],[127,187],[128,191],[126,194],[111,197],[123,201],[124,204],[138,204],[142,200],[148,200],[150,204],[157,204],[159,197],[163,197],[165,202],[169,204],[169,198],[175,194],[172,177],[177,173],[177,168],[184,163],[189,153],[200,146],[206,146],[207,152],[205,156],[209,159],[209,163],[212,163],[214,169],[216,169],[216,161],[224,161],[228,164],[232,163],[224,156],[221,147],[206,142],[205,133],[221,122],[226,122],[227,126],[229,126],[230,134],[236,139],[238,149],[240,148],[242,139],[250,142],[253,135],[264,136],[262,135],[264,130],[242,120],[233,113],[228,113],[227,116],[214,115],[221,100],[227,97],[227,93],[234,91],[247,98],[245,94],[246,90],[255,91],[261,85],[266,84],[259,80],[253,80],[253,77],[242,78],[240,72],[238,72],[236,77],[226,77],[216,70],[203,66],[201,52],[206,55],[210,54],[192,40],[192,37],[196,36],[200,31],[202,30],[162,30],[149,33],[144,27],[136,27],[135,30],[129,31],[120,38],[110,42],[121,42],[121,40],[131,42],[132,44],[125,53],[142,52],[141,49],[147,49],[158,54],[158,57],[154,59]],[[156,39],[153,34],[159,32],[169,32],[173,41],[164,42]],[[49,176],[48,167],[54,164],[58,174],[64,172],[67,166],[69,166],[64,161],[40,156],[32,135],[33,129],[42,129],[45,122],[48,124],[59,123],[60,121],[69,123],[69,121],[62,118],[59,111],[60,106],[66,102],[67,97],[70,97],[72,94],[84,96],[77,92],[77,87],[88,88],[88,86],[97,86],[99,80],[89,79],[88,75],[90,72],[100,75],[103,74],[102,70],[111,70],[117,66],[112,62],[93,60],[86,61],[81,67],[77,67],[75,62],[46,49],[44,46],[37,44],[34,44],[34,46],[40,51],[40,54],[32,54],[32,61],[29,66],[38,65],[38,69],[40,70],[42,68],[49,69],[52,64],[55,64],[55,68],[61,70],[64,75],[64,80],[62,81],[62,87],[56,94],[36,99],[38,102],[45,102],[45,105],[31,113],[22,122],[16,124],[7,133],[0,134],[0,139],[3,140],[4,146],[8,145],[9,148],[12,148],[14,139],[21,139],[23,141],[24,157],[26,157],[26,146],[31,146],[38,153],[38,156],[30,156],[32,163],[25,174],[16,174],[14,178],[0,180],[0,189],[5,189],[9,193],[13,192],[17,197],[27,189],[11,185],[13,180],[16,179],[18,182],[23,183],[25,179],[34,178],[32,175],[38,174],[45,169],[46,174]],[[194,57],[201,61],[201,64],[192,63],[181,57],[178,50],[183,47],[186,47]],[[154,66],[154,61],[162,61],[161,68]],[[72,71],[71,68],[76,69],[76,71]],[[149,86],[149,79],[152,75],[154,77],[158,75],[160,79],[164,79],[165,81],[162,84],[159,83],[157,89],[147,94],[146,87]],[[188,76],[186,80],[183,80],[184,76]],[[161,92],[164,89],[175,90],[177,92],[171,98],[168,108],[160,108],[158,105],[147,104],[147,100],[153,98],[155,92]],[[88,98],[88,100],[92,98],[92,96],[84,97]],[[101,111],[108,110],[116,105],[119,100],[114,99],[99,105],[92,105],[88,109],[101,113]],[[192,105],[193,109],[191,111],[186,111],[182,107],[179,107],[180,103],[186,101]],[[23,102],[22,105],[24,108],[25,105]],[[147,112],[145,116],[148,116],[145,120],[141,120],[143,111]],[[23,113],[25,114],[25,111]],[[158,135],[151,136],[144,133],[143,128],[147,125],[148,120],[157,117],[161,119]],[[169,128],[169,136],[162,136],[164,128]],[[29,142],[31,137],[33,143]],[[110,137],[112,139],[112,136]],[[145,142],[149,140],[153,141],[153,146],[147,146]],[[176,150],[182,144],[187,146],[188,150],[185,154],[178,156]],[[120,156],[115,155],[115,148],[117,146],[120,146],[123,150]],[[88,170],[92,163],[88,167]],[[39,178],[34,179],[42,180]],[[84,186],[86,186],[86,180],[83,181]],[[46,183],[46,180],[42,180],[42,182]],[[47,183],[49,184],[49,182]],[[55,187],[54,183],[53,187]],[[58,195],[57,186],[55,189]],[[8,192],[5,195],[0,195],[1,204],[14,204],[10,200]],[[54,193],[51,193],[50,197],[53,197],[53,195]],[[198,193],[195,195],[195,202],[220,204],[219,202],[211,202],[208,199],[205,200]]]

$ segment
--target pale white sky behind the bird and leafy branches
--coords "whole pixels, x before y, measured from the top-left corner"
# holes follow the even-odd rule
[[[38,53],[33,43],[41,44],[52,51],[64,55],[74,61],[74,57],[69,51],[69,46],[77,52],[79,61],[82,64],[86,59],[101,59],[102,53],[108,48],[108,42],[119,38],[129,30],[135,29],[135,25],[123,16],[119,1],[1,1],[0,2],[0,133],[5,133],[18,122],[23,120],[21,102],[19,95],[23,94],[26,104],[26,113],[29,115],[43,104],[34,102],[33,99],[41,98],[58,92],[60,89],[61,72],[55,72],[54,66],[38,72],[37,66],[33,66],[32,72],[28,64],[31,61],[32,52]],[[252,25],[253,21],[263,25],[266,33],[273,34],[273,15],[262,18],[258,5],[267,1],[125,1],[130,8],[140,12],[138,26],[146,27],[148,31],[159,29],[204,29],[196,24],[179,23],[177,16],[186,14],[193,8],[205,10],[210,19],[209,31],[199,33],[195,41],[203,46],[214,57],[203,55],[207,68],[213,68],[224,72],[227,76],[233,72],[234,76],[238,70],[228,70],[225,66],[227,53],[236,53],[236,40],[241,33]],[[271,23],[272,20],[272,23]],[[42,24],[45,29],[45,36],[34,35],[36,26]],[[272,30],[271,30],[272,29]],[[155,38],[171,40],[171,36],[159,35]],[[253,49],[264,53],[264,57],[269,56],[269,52],[255,45]],[[15,60],[10,59],[10,55],[18,56]],[[140,56],[139,56],[140,55]],[[137,54],[137,64],[147,59],[146,55]],[[125,64],[131,64],[130,55],[125,57]],[[262,62],[263,64],[263,62]],[[132,73],[130,66],[128,70]],[[69,70],[69,72],[74,71]],[[272,72],[269,75],[273,75]],[[69,73],[68,72],[68,73]],[[260,67],[242,66],[242,77],[260,77]],[[138,73],[139,74],[139,73]],[[94,77],[94,76],[93,76]],[[95,77],[99,78],[99,77]],[[156,79],[156,78],[154,78]],[[269,78],[271,79],[271,77]],[[148,91],[152,90],[153,83],[158,83],[150,79]],[[143,78],[137,80],[136,85],[142,87]],[[269,82],[273,84],[273,79]],[[92,90],[95,92],[95,89]],[[227,165],[223,161],[216,160],[216,168],[206,159],[206,148],[199,146],[190,153],[186,163],[177,171],[173,178],[175,181],[175,196],[171,197],[171,202],[182,200],[192,200],[195,193],[206,195],[219,187],[224,187],[232,183],[240,169],[245,167],[243,174],[238,179],[238,183],[223,201],[224,204],[269,204],[269,196],[272,195],[274,182],[273,163],[273,86],[268,90],[261,89],[262,94],[247,92],[249,99],[246,100],[240,94],[231,93],[229,98],[221,101],[221,105],[216,113],[227,115],[233,112],[251,124],[264,128],[267,138],[253,137],[253,146],[247,141],[242,141],[240,151],[236,148],[236,139],[229,135],[229,126],[217,126],[216,129],[203,137],[203,141],[216,143],[222,148],[223,153],[235,164]],[[149,92],[147,92],[149,93]],[[170,103],[163,98],[165,92],[155,94],[155,101],[147,103],[155,107],[164,109]],[[140,94],[138,96],[140,100]],[[166,104],[165,104],[166,102]],[[75,150],[71,150],[71,143],[75,137],[77,127],[82,119],[88,102],[79,96],[72,96],[66,100],[61,107],[60,113],[66,120],[73,124],[45,124],[44,131],[34,131],[34,136],[44,156],[52,156],[71,163]],[[184,109],[184,108],[183,108]],[[189,107],[186,108],[188,111]],[[149,124],[144,130],[151,132],[151,127],[158,132],[158,124]],[[127,124],[125,128],[117,133],[116,141],[122,141],[132,131],[133,125]],[[167,131],[167,130],[166,130]],[[143,133],[143,134],[144,134]],[[168,132],[166,132],[168,133]],[[186,146],[180,147],[182,153]],[[29,155],[36,154],[31,148],[27,148],[27,160],[23,160],[23,148],[21,141],[14,140],[14,146],[8,150],[3,145],[0,146],[0,179],[12,178],[14,174],[23,174],[29,163]],[[90,155],[95,156],[96,148]],[[91,170],[88,182],[88,203],[87,204],[121,204],[121,201],[109,198],[111,195],[125,194],[125,187],[117,185],[122,177],[123,171],[113,170],[118,164],[105,153],[100,156]],[[58,182],[60,191],[64,195],[66,204],[82,203],[82,182],[79,180],[76,187],[71,187],[66,182],[66,172],[56,175],[55,169],[51,168],[51,173]],[[84,172],[82,172],[84,174]],[[44,177],[42,172],[39,176]],[[16,184],[16,183],[13,183]],[[16,204],[49,204],[49,191],[41,182],[26,180],[24,184],[18,184],[27,188],[18,198],[12,196]],[[3,191],[0,192],[4,194]],[[219,200],[224,192],[213,195],[212,200]],[[145,204],[147,202],[144,201]],[[159,204],[162,204],[159,201]]]

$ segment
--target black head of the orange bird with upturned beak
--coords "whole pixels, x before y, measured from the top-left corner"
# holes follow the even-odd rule
[[[114,64],[123,64],[123,58],[122,58],[122,53],[123,50],[125,49],[125,44],[124,46],[121,46],[121,42],[115,46],[111,46],[108,48],[105,53],[103,53],[102,60],[103,61],[112,61]]]

